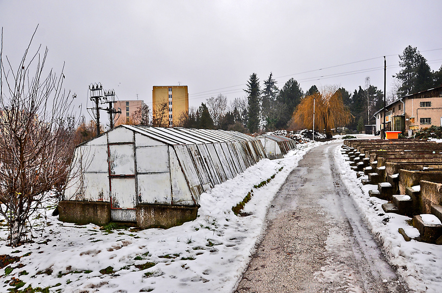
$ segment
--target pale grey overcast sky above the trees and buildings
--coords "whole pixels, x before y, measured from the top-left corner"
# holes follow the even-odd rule
[[[34,48],[48,47],[48,69],[65,62],[77,105],[86,106],[93,82],[150,107],[153,85],[180,82],[199,106],[220,93],[244,97],[253,72],[261,83],[273,72],[279,88],[293,77],[304,91],[336,84],[353,92],[370,77],[383,90],[384,55],[388,93],[408,45],[441,67],[441,11],[439,0],[0,0],[0,26],[14,66],[39,25]]]

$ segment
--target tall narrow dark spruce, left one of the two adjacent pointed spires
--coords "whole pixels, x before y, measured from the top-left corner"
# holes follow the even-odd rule
[[[256,73],[250,75],[245,91],[249,94],[247,97],[249,102],[247,127],[250,133],[255,133],[259,130],[259,110],[260,110],[260,93],[259,79]]]

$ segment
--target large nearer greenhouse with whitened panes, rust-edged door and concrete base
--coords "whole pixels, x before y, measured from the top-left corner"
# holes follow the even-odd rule
[[[266,154],[259,139],[221,130],[122,125],[77,146],[60,220],[171,227],[199,197]]]

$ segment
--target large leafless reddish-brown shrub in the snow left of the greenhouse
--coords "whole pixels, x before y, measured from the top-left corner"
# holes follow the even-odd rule
[[[31,232],[30,216],[49,191],[65,185],[74,148],[75,128],[68,121],[73,98],[61,89],[63,71],[58,77],[52,70],[43,73],[47,48],[29,55],[35,32],[15,72],[3,57],[1,32],[0,213],[14,246]]]

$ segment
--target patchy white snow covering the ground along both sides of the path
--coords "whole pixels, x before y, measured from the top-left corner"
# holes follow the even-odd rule
[[[265,229],[266,211],[277,190],[304,154],[322,144],[300,144],[284,159],[261,160],[202,194],[196,220],[167,230],[100,230],[96,225],[79,226],[47,216],[40,219],[41,232],[34,234],[34,243],[11,248],[4,245],[7,230],[2,227],[0,255],[21,259],[0,269],[0,291],[20,284],[20,289],[30,285],[74,293],[232,292]],[[384,201],[368,198],[368,189],[374,187],[360,185],[339,149],[335,160],[344,184],[382,241],[391,263],[398,266],[412,289],[438,292],[442,288],[441,247],[405,242],[398,227],[410,236],[416,233],[407,225],[408,218],[381,216]],[[267,185],[254,187],[274,174]],[[250,190],[253,197],[244,209],[250,215],[235,215],[232,207]]]

